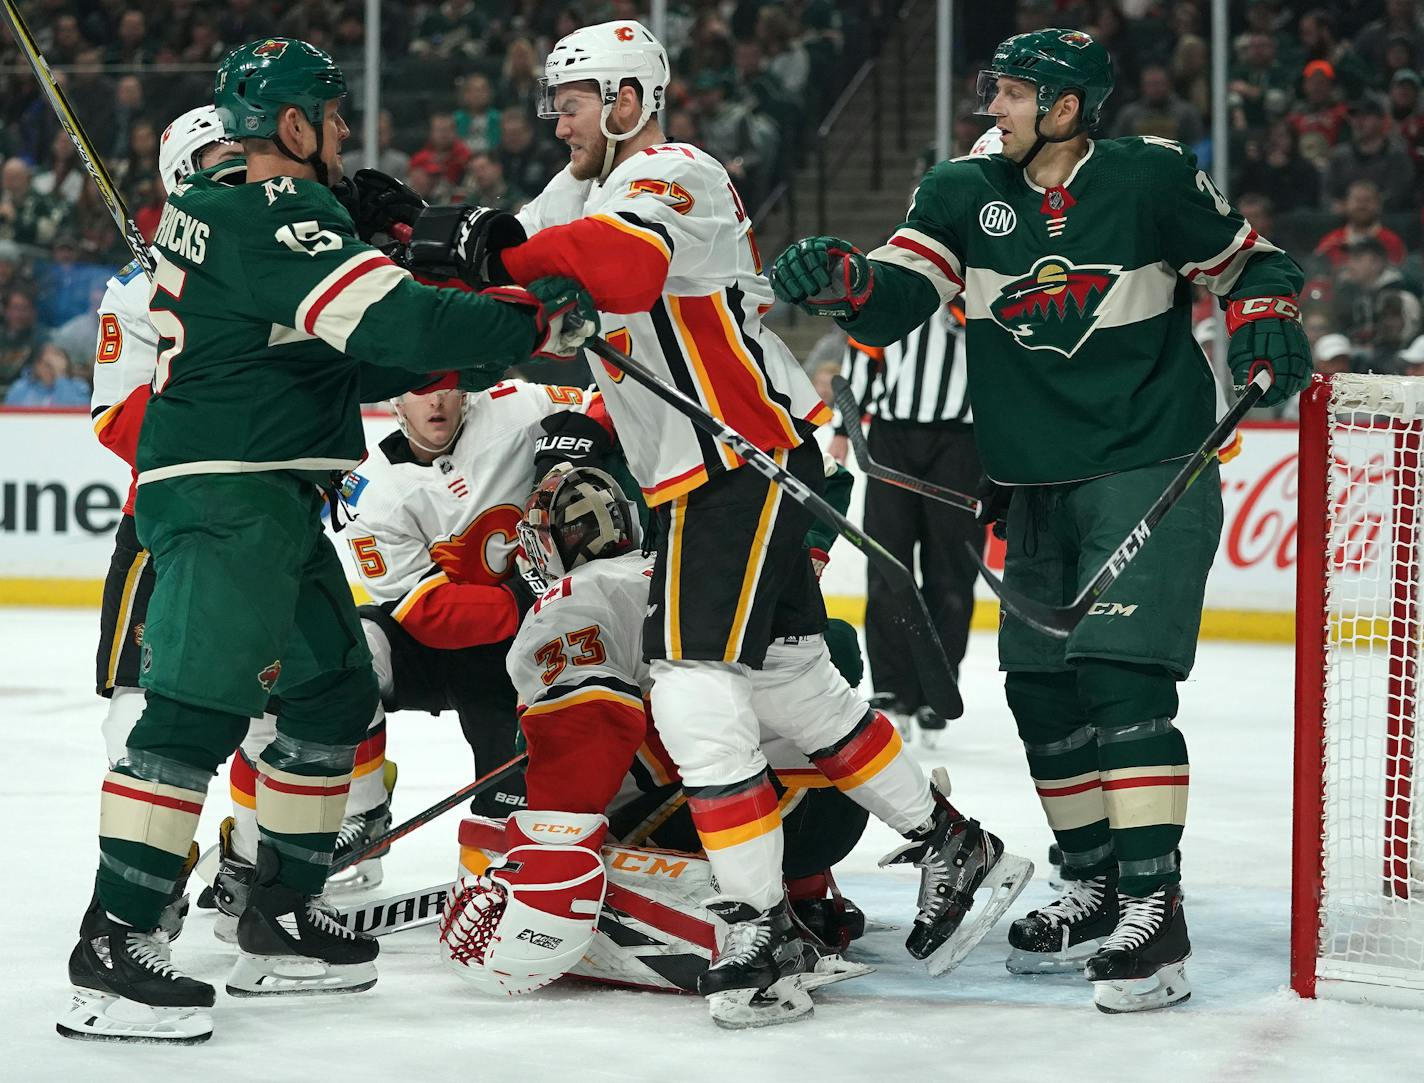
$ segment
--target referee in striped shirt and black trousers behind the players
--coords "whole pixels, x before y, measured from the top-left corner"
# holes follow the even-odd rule
[[[977,490],[981,470],[965,383],[964,309],[958,303],[941,306],[923,326],[883,349],[850,339],[842,376],[862,414],[870,417],[867,441],[876,463],[960,492]],[[844,435],[832,443],[832,455],[844,461]],[[965,544],[978,545],[984,528],[964,511],[880,482],[866,488],[864,525],[907,568],[914,568],[918,546],[924,601],[958,677],[978,571]],[[906,736],[913,722],[926,744],[933,744],[931,734],[944,729],[944,719],[926,704],[911,665],[914,652],[896,616],[891,591],[870,565],[866,646],[877,693],[873,702]]]

